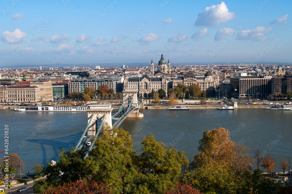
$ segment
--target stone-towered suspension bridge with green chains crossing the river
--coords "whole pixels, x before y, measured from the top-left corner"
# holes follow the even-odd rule
[[[115,112],[112,112],[112,105],[88,105],[88,124],[75,146],[77,150],[83,149],[85,151],[84,158],[88,156],[88,151],[94,147],[96,138],[102,136],[105,123],[110,127],[119,127],[126,117],[143,117],[143,113],[139,112],[143,101],[138,101],[137,92],[138,89],[124,89],[123,103]],[[89,141],[91,146],[88,148],[86,144]]]

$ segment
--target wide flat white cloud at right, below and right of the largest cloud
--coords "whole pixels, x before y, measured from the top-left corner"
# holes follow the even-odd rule
[[[265,27],[256,27],[256,29],[253,30],[243,30],[241,31],[236,39],[237,40],[266,40],[267,36],[263,32],[270,32],[271,27],[265,28]]]

